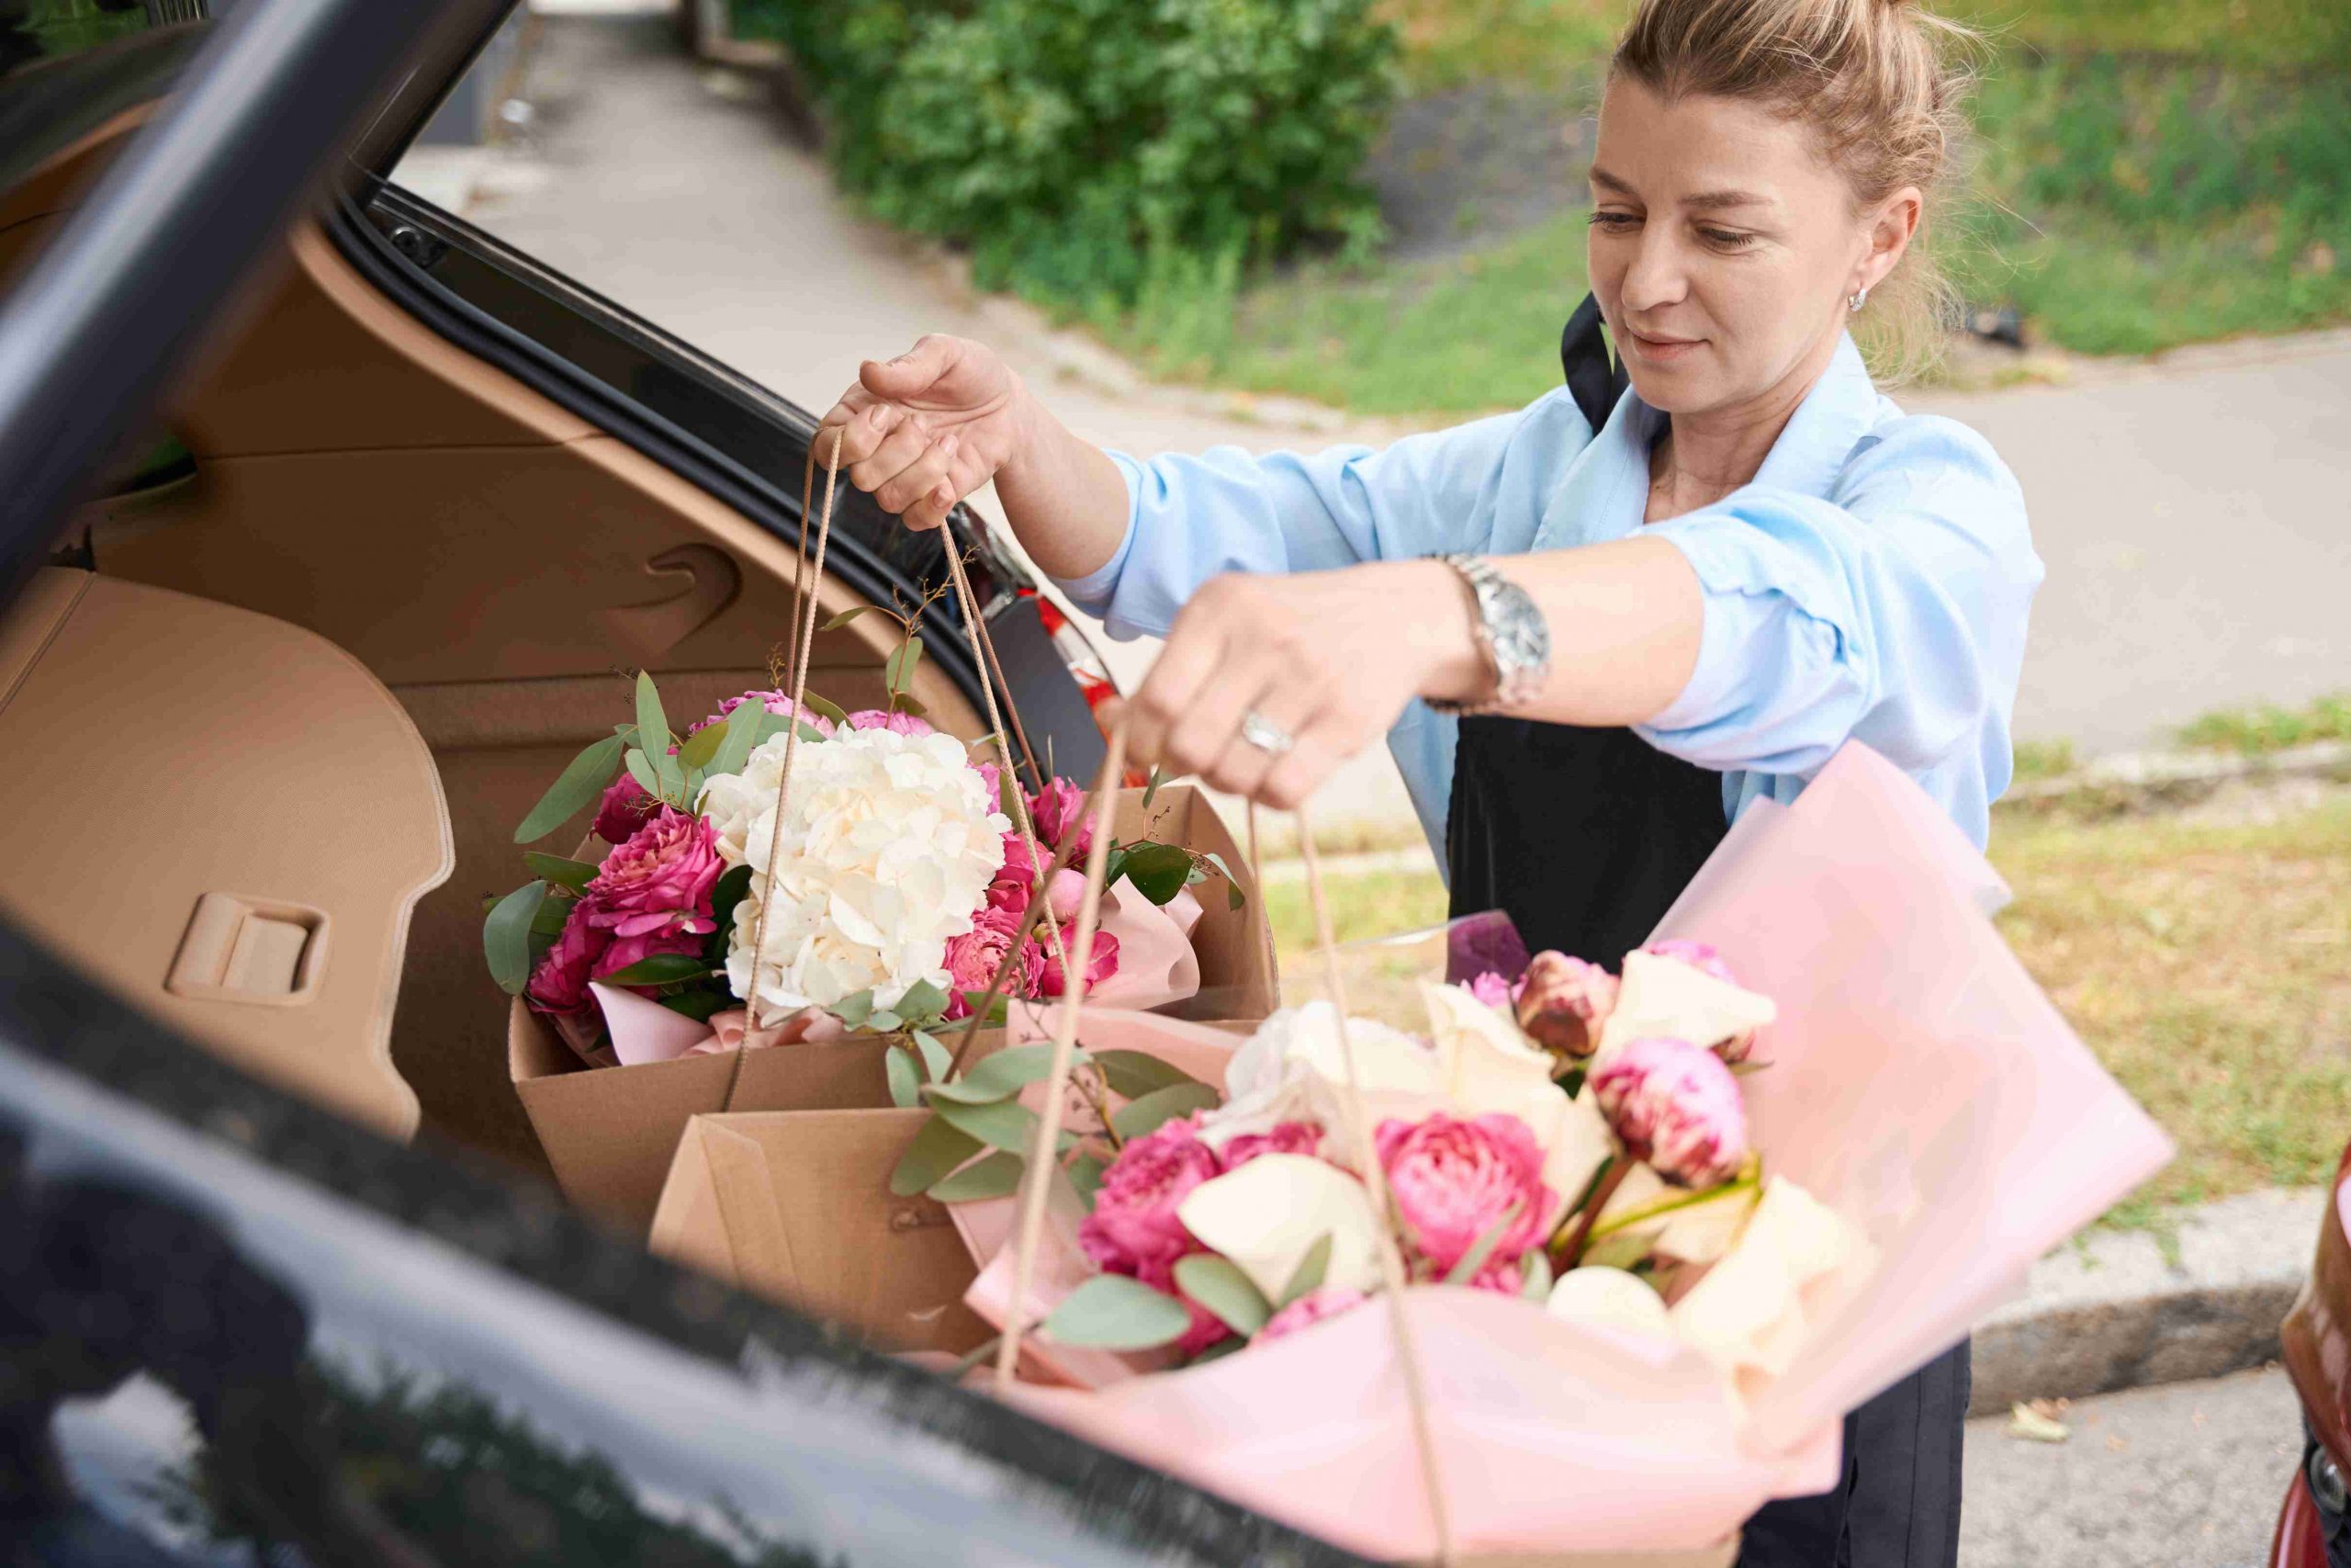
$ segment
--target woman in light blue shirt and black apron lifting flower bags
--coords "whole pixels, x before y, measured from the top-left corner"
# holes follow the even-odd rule
[[[924,339],[825,423],[912,527],[994,480],[1079,604],[1166,635],[1138,757],[1288,806],[1387,733],[1455,912],[1538,947],[1615,961],[1730,818],[1848,738],[1982,844],[2041,562],[1984,440],[1904,416],[1848,336],[1937,329],[1918,237],[1961,40],[1907,0],[1643,0],[1568,386],[1516,414],[1140,463]],[[1843,1486],[1763,1509],[1740,1561],[1954,1563],[1965,1406],[1961,1347],[1848,1418]]]

